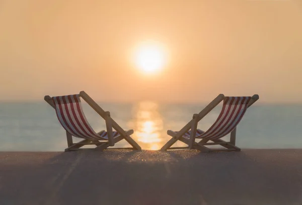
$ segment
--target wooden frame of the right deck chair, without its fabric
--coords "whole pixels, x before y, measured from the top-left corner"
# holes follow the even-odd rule
[[[168,135],[172,136],[172,139],[169,140],[162,148],[162,151],[166,150],[173,150],[173,149],[197,149],[202,152],[218,152],[218,151],[240,151],[241,149],[236,146],[236,128],[232,130],[230,142],[225,142],[221,139],[215,139],[215,140],[207,140],[202,139],[199,143],[195,142],[195,136],[196,136],[196,129],[198,122],[206,116],[214,107],[216,107],[222,100],[224,99],[223,94],[219,94],[212,102],[210,102],[203,110],[201,110],[198,114],[194,114],[193,118],[177,133],[168,130]],[[250,107],[252,104],[254,104],[259,99],[259,95],[253,95],[248,107]],[[183,135],[191,129],[191,135],[189,139],[186,139],[183,137]],[[181,141],[188,145],[188,147],[174,147],[171,148],[171,146],[176,143],[177,141]],[[212,143],[208,143],[208,141],[212,141]],[[226,149],[210,149],[205,146],[207,145],[220,145]]]

